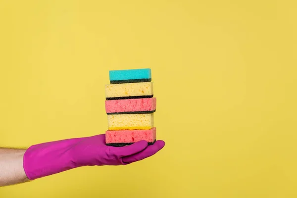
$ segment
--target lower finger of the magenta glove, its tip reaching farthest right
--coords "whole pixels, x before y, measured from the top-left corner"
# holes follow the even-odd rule
[[[122,161],[125,164],[129,164],[132,162],[143,160],[147,157],[154,155],[156,152],[161,150],[164,146],[165,146],[165,142],[162,140],[158,140],[153,145],[148,146],[147,148],[145,148],[143,151],[139,153],[123,157]]]

